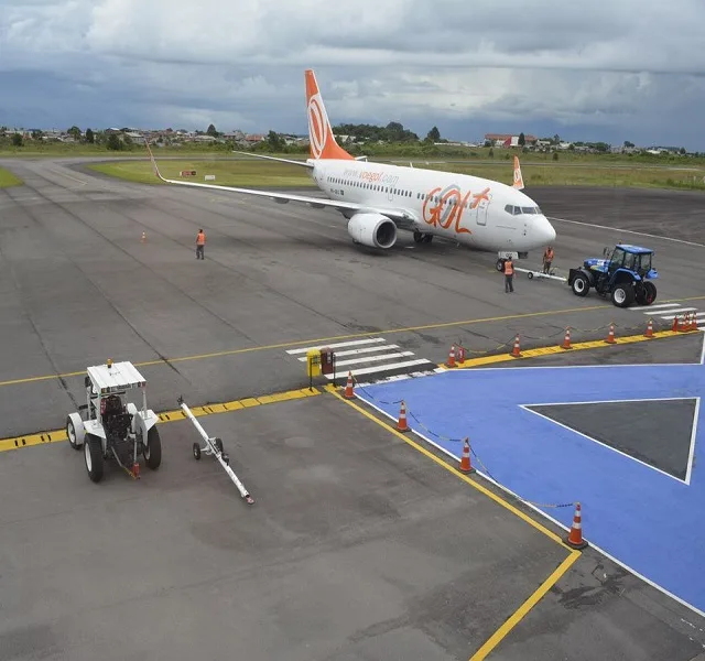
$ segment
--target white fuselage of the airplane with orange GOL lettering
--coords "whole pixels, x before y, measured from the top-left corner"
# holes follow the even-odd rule
[[[527,252],[555,231],[528,195],[467,174],[354,160],[312,160],[312,176],[332,199],[403,210],[409,229],[480,250]]]

